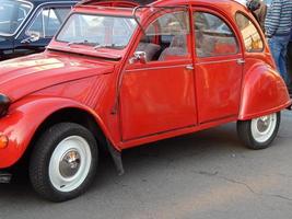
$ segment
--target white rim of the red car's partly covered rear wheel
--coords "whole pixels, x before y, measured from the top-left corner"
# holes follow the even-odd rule
[[[277,114],[261,116],[252,119],[252,135],[257,142],[265,142],[275,132],[277,126]]]

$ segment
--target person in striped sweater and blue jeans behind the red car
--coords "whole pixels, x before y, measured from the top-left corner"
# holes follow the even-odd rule
[[[277,69],[289,87],[291,79],[287,71],[287,46],[292,28],[292,0],[272,0],[268,9],[265,31]]]

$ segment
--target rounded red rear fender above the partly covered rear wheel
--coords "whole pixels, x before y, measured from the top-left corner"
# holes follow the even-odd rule
[[[244,77],[238,119],[276,113],[289,105],[291,100],[281,76],[265,64],[253,66]]]

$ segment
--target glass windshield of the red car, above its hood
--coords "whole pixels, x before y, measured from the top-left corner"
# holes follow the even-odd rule
[[[68,45],[94,48],[125,48],[137,27],[132,18],[73,13],[57,36]]]

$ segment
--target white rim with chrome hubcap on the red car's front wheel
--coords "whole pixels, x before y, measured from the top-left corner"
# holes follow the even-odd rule
[[[58,143],[49,161],[49,180],[59,192],[71,192],[86,178],[92,162],[87,141],[70,136]]]

